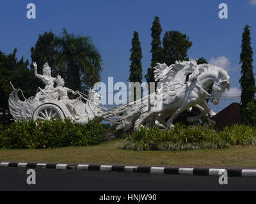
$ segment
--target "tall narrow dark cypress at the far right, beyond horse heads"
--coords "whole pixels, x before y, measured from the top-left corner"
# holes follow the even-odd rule
[[[241,116],[242,120],[245,118],[243,114],[244,108],[246,107],[247,103],[253,101],[254,94],[256,91],[255,88],[255,78],[253,74],[253,51],[251,47],[251,37],[250,37],[250,26],[246,25],[244,27],[244,32],[242,36],[242,52],[240,54],[240,64],[241,66],[241,74],[242,77],[240,78],[239,82],[241,85]]]

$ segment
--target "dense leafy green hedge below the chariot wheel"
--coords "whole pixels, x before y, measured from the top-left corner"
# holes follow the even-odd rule
[[[74,124],[71,120],[18,121],[0,126],[0,148],[43,149],[96,145],[108,130],[104,124],[90,121]]]

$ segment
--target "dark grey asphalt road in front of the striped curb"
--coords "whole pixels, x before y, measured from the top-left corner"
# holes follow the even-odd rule
[[[256,178],[118,173],[35,169],[36,185],[28,185],[27,168],[0,167],[0,191],[255,191]]]

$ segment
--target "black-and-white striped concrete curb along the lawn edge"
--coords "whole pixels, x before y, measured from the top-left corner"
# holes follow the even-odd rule
[[[52,163],[9,163],[1,162],[0,167],[51,168],[56,170],[117,171],[133,173],[161,173],[175,175],[220,176],[227,170],[228,177],[256,177],[256,170],[225,168],[170,168],[157,166],[121,166],[101,164],[52,164]]]

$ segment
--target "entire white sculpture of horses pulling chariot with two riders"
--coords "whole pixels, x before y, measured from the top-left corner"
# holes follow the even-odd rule
[[[161,85],[157,87],[156,92],[139,101],[107,109],[99,105],[101,96],[94,89],[89,91],[88,96],[73,91],[64,86],[60,75],[51,77],[48,63],[44,64],[43,75],[38,75],[36,62],[33,62],[33,65],[35,77],[42,80],[45,87],[39,87],[40,91],[28,99],[24,97],[22,90],[13,87],[9,108],[15,120],[69,118],[83,124],[88,120],[108,120],[117,124],[116,129],[122,131],[136,131],[140,127],[153,126],[170,128],[177,115],[184,110],[191,111],[193,107],[198,108],[201,113],[188,117],[189,122],[208,114],[214,115],[206,99],[209,98],[211,103],[217,105],[221,94],[230,87],[227,71],[211,64],[198,65],[196,61],[175,61],[175,64],[167,66],[157,63],[154,77]],[[19,92],[22,93],[24,101],[19,99]],[[68,93],[76,95],[77,98],[69,99]]]

